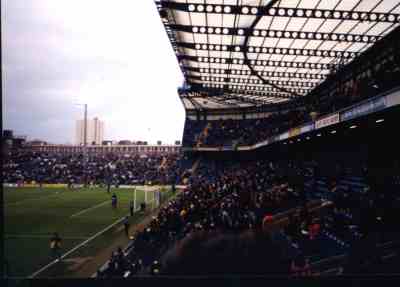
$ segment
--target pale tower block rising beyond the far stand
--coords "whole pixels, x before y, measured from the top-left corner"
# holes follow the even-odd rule
[[[85,142],[85,121],[76,121],[76,144],[83,145]],[[87,120],[86,142],[87,145],[101,145],[104,140],[104,123],[98,118]]]

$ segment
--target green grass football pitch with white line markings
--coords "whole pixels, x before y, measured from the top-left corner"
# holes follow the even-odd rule
[[[171,196],[160,188],[161,201]],[[4,257],[9,277],[61,276],[73,273],[79,258],[91,258],[116,237],[125,236],[121,219],[129,214],[130,201],[135,206],[147,199],[155,207],[154,191],[104,188],[28,188],[5,187],[4,191]],[[111,207],[111,195],[118,207]],[[147,195],[145,195],[147,193]],[[146,214],[135,212],[129,217],[133,226]],[[54,263],[50,238],[58,232],[62,238],[62,262]],[[124,246],[121,246],[124,247]],[[103,262],[104,263],[104,262]],[[57,265],[57,266],[53,266]],[[47,267],[46,267],[47,266]]]

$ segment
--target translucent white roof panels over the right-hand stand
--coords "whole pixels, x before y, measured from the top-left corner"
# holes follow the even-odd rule
[[[168,20],[163,23],[177,55],[185,59],[181,60],[181,66],[190,71],[187,74],[192,76],[192,83],[227,88],[239,82],[245,91],[261,93],[268,89],[260,89],[262,84],[259,77],[276,82],[286,80],[286,84],[293,85],[287,80],[290,82],[288,74],[294,73],[296,83],[300,86],[320,83],[324,77],[318,76],[330,73],[327,64],[351,62],[358,55],[357,52],[373,45],[374,38],[367,36],[386,35],[399,25],[398,22],[393,23],[393,19],[400,19],[398,0],[282,0],[266,11],[264,6],[269,2],[162,2],[169,12]],[[238,3],[239,6],[236,6]],[[384,19],[377,18],[378,14],[374,13],[378,12],[397,14]],[[256,16],[257,13],[262,16]],[[249,30],[256,19],[258,24],[254,30]],[[169,26],[174,24],[177,26]],[[246,40],[247,46],[244,47]],[[176,42],[186,48],[175,46]],[[344,52],[356,54],[351,58],[345,56]],[[244,61],[246,56],[248,62]],[[258,76],[251,75],[250,69]],[[314,78],[309,79],[310,76],[305,75]],[[227,81],[226,85],[223,79]],[[281,92],[285,93],[283,90]],[[231,90],[229,93],[249,97],[240,90]],[[207,90],[204,90],[204,94],[207,95]],[[213,97],[213,94],[209,94],[209,97]],[[281,101],[278,94],[276,97]],[[218,101],[223,102],[223,99]],[[232,103],[236,100],[227,98],[226,101]]]

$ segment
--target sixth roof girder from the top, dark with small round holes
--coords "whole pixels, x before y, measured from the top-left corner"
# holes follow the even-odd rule
[[[188,79],[194,79],[198,81],[215,81],[215,82],[224,82],[228,83],[229,85],[235,85],[236,83],[243,83],[243,84],[262,84],[261,80],[258,79],[249,79],[249,78],[227,78],[227,77],[215,77],[215,76],[194,76],[188,75]],[[275,81],[270,80],[270,82],[281,85],[281,86],[289,86],[289,87],[301,87],[301,88],[314,88],[318,85],[315,82],[299,82],[299,81]]]

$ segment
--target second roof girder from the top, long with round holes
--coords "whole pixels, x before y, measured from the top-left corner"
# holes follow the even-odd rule
[[[231,36],[252,36],[268,37],[278,39],[300,39],[300,40],[321,40],[338,41],[350,43],[375,43],[382,37],[363,34],[345,34],[345,33],[322,33],[322,32],[302,32],[302,31],[284,31],[284,30],[264,30],[249,28],[224,28],[207,27],[191,25],[168,25],[171,29],[180,32],[200,33],[209,35],[231,35]],[[219,33],[218,33],[219,32]],[[225,33],[226,32],[226,33]]]

